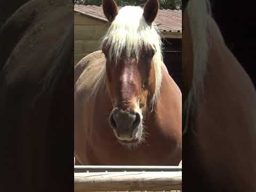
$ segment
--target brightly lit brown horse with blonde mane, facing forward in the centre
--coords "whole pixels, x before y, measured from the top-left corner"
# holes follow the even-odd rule
[[[159,2],[102,9],[101,50],[75,66],[75,164],[179,165],[182,98],[163,63]]]

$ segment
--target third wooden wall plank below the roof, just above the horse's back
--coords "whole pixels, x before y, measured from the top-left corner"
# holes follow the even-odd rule
[[[74,44],[74,52],[77,53],[87,53],[100,50],[100,42],[99,41],[83,41],[83,40],[75,40]]]

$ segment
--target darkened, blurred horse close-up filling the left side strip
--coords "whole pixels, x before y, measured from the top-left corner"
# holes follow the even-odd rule
[[[0,190],[72,191],[73,2],[4,7],[10,17],[0,29]]]

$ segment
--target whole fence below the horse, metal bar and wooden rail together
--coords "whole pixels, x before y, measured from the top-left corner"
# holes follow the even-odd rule
[[[75,166],[75,192],[181,190],[181,166]]]

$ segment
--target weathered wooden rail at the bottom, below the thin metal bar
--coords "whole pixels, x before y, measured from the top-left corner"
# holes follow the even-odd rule
[[[75,192],[181,190],[182,172],[74,173]]]

